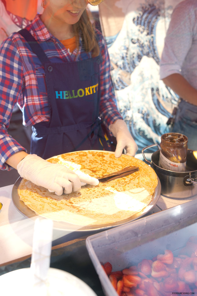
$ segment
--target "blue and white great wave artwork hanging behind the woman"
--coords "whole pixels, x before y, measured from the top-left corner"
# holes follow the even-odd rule
[[[166,123],[178,102],[178,96],[159,79],[161,44],[156,40],[161,40],[157,26],[162,28],[164,23],[165,38],[166,23],[170,21],[166,16],[172,7],[164,12],[157,3],[146,1],[135,11],[128,7],[119,34],[113,42],[106,37],[117,105],[139,147],[137,153],[148,145],[159,144],[161,135],[170,131]]]

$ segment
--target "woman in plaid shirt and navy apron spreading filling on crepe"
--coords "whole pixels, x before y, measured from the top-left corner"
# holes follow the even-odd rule
[[[117,110],[107,48],[92,26],[87,4],[43,1],[43,14],[26,30],[11,34],[0,49],[1,169],[16,168],[21,177],[58,195],[79,190],[81,181],[96,185],[98,180],[44,159],[103,149],[101,118],[116,137],[116,157],[123,148],[130,155],[137,150]],[[6,133],[16,103],[24,124],[33,126],[30,155]]]

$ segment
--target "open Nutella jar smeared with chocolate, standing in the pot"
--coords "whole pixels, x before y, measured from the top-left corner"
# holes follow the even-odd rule
[[[188,138],[181,133],[165,133],[161,136],[159,166],[166,170],[184,172],[188,150]]]

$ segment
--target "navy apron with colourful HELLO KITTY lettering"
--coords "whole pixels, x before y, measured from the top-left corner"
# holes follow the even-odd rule
[[[32,127],[31,153],[46,159],[67,152],[105,149],[100,139],[100,56],[51,63],[29,31],[18,33],[44,66],[50,108],[50,121]],[[106,146],[110,150],[109,143]]]

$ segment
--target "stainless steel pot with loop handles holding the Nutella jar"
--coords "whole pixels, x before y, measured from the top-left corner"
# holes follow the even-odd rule
[[[144,151],[154,146],[157,146],[159,150],[153,152],[151,161],[149,161],[146,159]],[[197,197],[197,159],[193,155],[193,150],[188,149],[187,171],[185,172],[174,172],[159,167],[159,152],[160,147],[158,144],[149,145],[141,151],[144,160],[151,165],[161,182],[161,194],[178,199]]]

